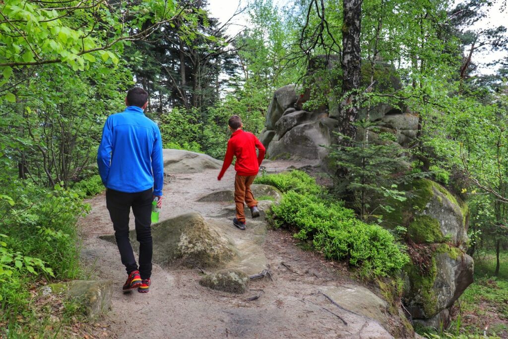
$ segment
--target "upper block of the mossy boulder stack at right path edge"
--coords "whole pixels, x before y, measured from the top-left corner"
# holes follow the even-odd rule
[[[465,250],[467,243],[467,205],[437,182],[417,179],[403,189],[405,201],[390,200],[383,226],[407,228],[407,236],[416,243],[451,242]]]

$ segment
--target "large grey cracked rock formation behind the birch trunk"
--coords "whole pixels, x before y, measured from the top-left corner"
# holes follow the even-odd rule
[[[315,159],[323,165],[329,154],[327,147],[334,143],[338,111],[331,104],[330,108],[321,107],[311,112],[299,109],[300,90],[295,85],[287,85],[275,91],[260,141],[270,159]],[[400,145],[408,146],[417,135],[418,116],[403,113],[400,107],[379,104],[363,110],[361,118],[366,118],[367,114],[378,124],[377,133],[369,132],[373,140],[378,138],[378,133],[390,133]]]

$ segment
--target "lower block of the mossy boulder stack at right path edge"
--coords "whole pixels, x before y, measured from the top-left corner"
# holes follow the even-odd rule
[[[473,281],[473,260],[459,248],[441,243],[428,245],[429,267],[422,272],[406,265],[403,302],[414,319],[429,320],[449,309]]]

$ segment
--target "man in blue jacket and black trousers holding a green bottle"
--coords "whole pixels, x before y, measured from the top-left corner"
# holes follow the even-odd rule
[[[128,274],[123,290],[137,288],[142,293],[149,290],[152,271],[151,204],[158,197],[161,207],[164,179],[161,132],[143,113],[147,103],[144,89],[128,91],[128,107],[110,115],[104,124],[97,155],[116,244]],[[139,269],[129,241],[131,207],[139,241]]]

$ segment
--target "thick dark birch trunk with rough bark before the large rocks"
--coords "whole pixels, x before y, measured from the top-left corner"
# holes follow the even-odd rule
[[[343,0],[344,23],[342,28],[342,100],[339,117],[339,132],[355,139],[358,118],[356,94],[360,87],[360,30],[362,0]]]

